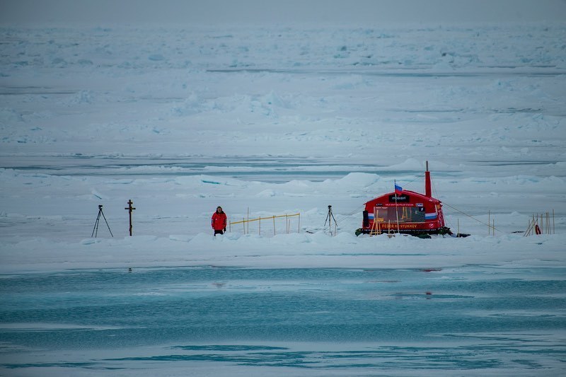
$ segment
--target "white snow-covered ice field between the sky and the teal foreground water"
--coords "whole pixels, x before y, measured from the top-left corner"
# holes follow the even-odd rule
[[[0,30],[2,274],[565,265],[564,24]],[[472,236],[354,236],[424,161]],[[300,225],[214,238],[217,205]]]

